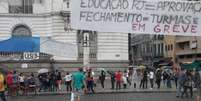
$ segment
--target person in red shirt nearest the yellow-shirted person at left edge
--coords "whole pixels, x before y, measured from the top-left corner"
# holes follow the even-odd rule
[[[8,74],[6,75],[6,81],[7,81],[7,87],[8,87],[8,93],[11,94],[11,88],[13,85],[13,73],[12,72],[8,72]]]

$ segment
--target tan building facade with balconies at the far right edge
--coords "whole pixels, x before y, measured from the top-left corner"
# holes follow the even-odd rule
[[[201,59],[201,37],[176,36],[176,62],[185,63]]]

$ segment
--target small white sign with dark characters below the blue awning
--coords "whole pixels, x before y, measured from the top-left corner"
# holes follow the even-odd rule
[[[37,52],[25,52],[23,54],[23,60],[38,60],[39,53]]]

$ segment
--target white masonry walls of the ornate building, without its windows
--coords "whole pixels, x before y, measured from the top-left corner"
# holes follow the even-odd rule
[[[37,1],[37,0],[36,0]],[[68,0],[67,0],[68,1]],[[33,14],[9,14],[8,2],[0,1],[0,40],[11,37],[12,30],[19,24],[30,28],[32,36],[52,37],[59,42],[77,44],[77,31],[65,31],[61,12],[70,13],[63,0],[42,0],[33,4]],[[128,63],[128,34],[98,33],[97,61],[94,64]],[[55,56],[55,60],[77,61],[75,58]],[[108,64],[109,63],[109,64]],[[81,62],[79,62],[81,64]],[[114,66],[113,65],[113,66]],[[121,67],[121,65],[118,65]]]

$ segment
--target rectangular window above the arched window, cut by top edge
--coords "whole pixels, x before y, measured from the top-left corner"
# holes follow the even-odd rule
[[[9,13],[33,13],[33,0],[10,0]]]

